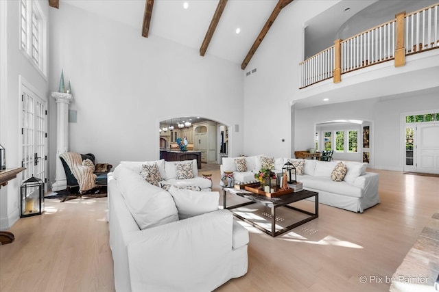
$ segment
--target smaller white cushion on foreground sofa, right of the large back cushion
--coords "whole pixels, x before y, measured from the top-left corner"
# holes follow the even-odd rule
[[[218,209],[219,192],[217,191],[191,191],[171,187],[169,193],[174,198],[180,220]]]

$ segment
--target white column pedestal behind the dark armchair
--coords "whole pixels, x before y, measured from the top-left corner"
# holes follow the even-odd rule
[[[52,97],[56,99],[56,174],[52,191],[59,191],[67,188],[66,173],[59,157],[69,148],[69,104],[73,97],[61,92],[52,92]]]

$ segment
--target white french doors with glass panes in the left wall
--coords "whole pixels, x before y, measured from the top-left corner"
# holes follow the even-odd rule
[[[26,86],[21,94],[23,181],[32,176],[47,182],[46,102]]]

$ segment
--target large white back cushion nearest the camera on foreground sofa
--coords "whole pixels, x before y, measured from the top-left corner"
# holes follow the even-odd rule
[[[140,229],[178,221],[178,211],[171,195],[123,164],[115,168],[117,185]]]

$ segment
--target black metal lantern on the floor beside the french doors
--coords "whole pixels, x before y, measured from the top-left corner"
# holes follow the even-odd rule
[[[29,217],[41,215],[44,211],[44,183],[32,176],[21,185],[21,215]]]

